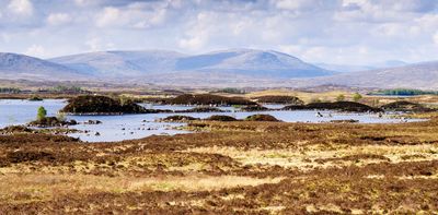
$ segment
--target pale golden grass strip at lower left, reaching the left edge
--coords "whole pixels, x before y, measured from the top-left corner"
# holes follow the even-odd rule
[[[47,201],[65,195],[90,193],[128,193],[143,191],[214,191],[263,183],[278,183],[283,177],[252,178],[239,176],[191,175],[184,177],[106,177],[83,174],[70,175],[8,175],[0,176],[0,201],[24,203]]]

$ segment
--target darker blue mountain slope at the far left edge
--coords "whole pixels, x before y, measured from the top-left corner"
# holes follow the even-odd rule
[[[0,52],[1,79],[31,81],[87,80],[88,75],[68,67],[24,55]]]

